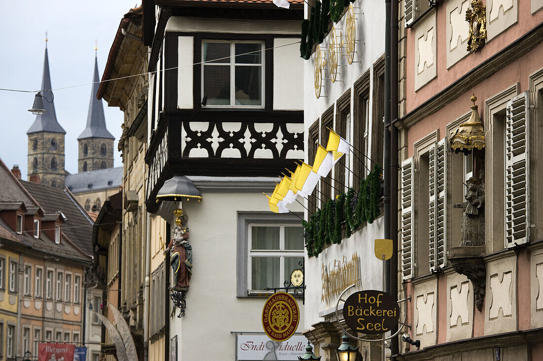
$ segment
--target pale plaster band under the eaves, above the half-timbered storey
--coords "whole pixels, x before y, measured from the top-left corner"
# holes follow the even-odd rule
[[[169,18],[166,23],[166,31],[237,34],[300,34],[300,24],[300,21],[219,20],[173,16]]]

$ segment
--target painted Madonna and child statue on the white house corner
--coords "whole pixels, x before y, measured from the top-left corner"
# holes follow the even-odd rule
[[[168,244],[170,266],[175,276],[175,287],[188,287],[192,275],[192,246],[188,244],[188,227],[176,225],[173,237]]]

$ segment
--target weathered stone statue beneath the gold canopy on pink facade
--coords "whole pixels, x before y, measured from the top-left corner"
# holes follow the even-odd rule
[[[479,172],[481,184],[477,178],[468,181],[468,192],[464,203],[454,204],[454,208],[462,208],[462,243],[460,246],[484,246],[484,169]]]

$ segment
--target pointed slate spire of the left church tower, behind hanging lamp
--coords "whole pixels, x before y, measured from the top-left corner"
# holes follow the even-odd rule
[[[41,80],[43,99],[43,109],[47,112],[36,115],[36,120],[30,126],[27,134],[36,132],[53,132],[66,134],[64,128],[62,128],[58,121],[56,121],[55,104],[48,100],[53,100],[53,92],[50,92],[51,87],[51,75],[49,74],[49,56],[47,55],[47,39],[45,40],[45,60],[43,61],[43,77]]]

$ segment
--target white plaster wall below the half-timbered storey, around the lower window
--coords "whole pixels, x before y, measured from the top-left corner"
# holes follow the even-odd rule
[[[239,185],[243,188],[243,184]],[[182,202],[188,216],[193,251],[193,274],[187,292],[186,315],[171,318],[171,337],[178,335],[180,361],[235,359],[235,334],[231,331],[263,332],[262,307],[266,298],[237,298],[237,212],[269,212],[260,193],[203,193],[201,203]],[[296,203],[292,211],[301,211]],[[300,332],[304,307],[299,302]],[[213,347],[202,347],[213,340]],[[182,345],[182,346],[181,346]]]

